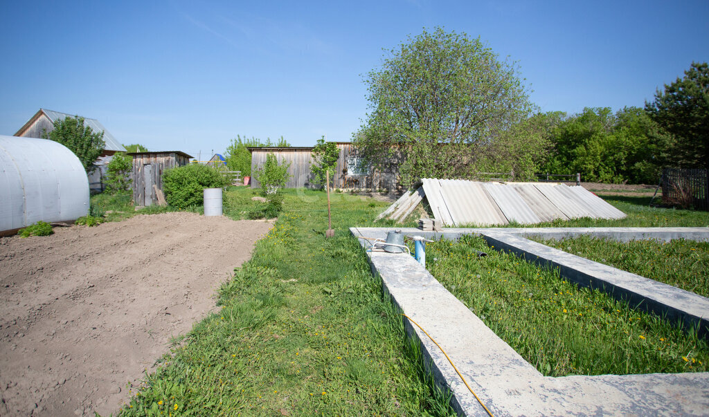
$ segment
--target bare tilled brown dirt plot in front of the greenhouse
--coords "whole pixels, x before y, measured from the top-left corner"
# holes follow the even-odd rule
[[[0,238],[0,415],[115,413],[271,225],[173,212]]]

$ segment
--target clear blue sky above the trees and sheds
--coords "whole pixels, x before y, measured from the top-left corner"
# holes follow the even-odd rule
[[[423,28],[518,62],[544,111],[642,106],[709,61],[709,1],[2,1],[0,135],[39,108],[202,159],[236,135],[348,141],[362,76]]]

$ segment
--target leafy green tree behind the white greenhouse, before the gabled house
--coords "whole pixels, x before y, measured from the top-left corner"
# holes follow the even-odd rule
[[[44,130],[42,138],[59,142],[69,148],[82,162],[86,173],[96,169],[96,158],[106,147],[104,132],[94,132],[91,127],[84,125],[84,118],[79,116],[55,120],[52,131]]]

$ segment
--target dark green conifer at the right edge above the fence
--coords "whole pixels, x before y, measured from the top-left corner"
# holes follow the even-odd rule
[[[709,64],[693,62],[682,79],[658,89],[645,109],[674,139],[671,164],[709,168]]]

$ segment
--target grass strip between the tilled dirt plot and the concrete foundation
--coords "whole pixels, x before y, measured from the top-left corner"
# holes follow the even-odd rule
[[[243,206],[228,215],[250,210],[252,195],[229,190]],[[221,285],[220,312],[175,338],[121,415],[450,415],[347,230],[386,205],[333,195],[335,237],[325,239],[325,194],[286,190],[271,232]]]

